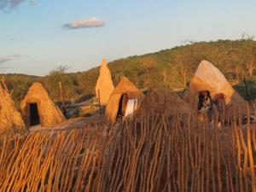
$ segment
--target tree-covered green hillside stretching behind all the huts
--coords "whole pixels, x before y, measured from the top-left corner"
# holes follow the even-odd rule
[[[256,97],[256,41],[252,38],[239,40],[218,40],[198,42],[164,49],[146,55],[134,55],[108,63],[114,84],[125,75],[140,89],[148,86],[165,86],[183,91],[193,77],[201,60],[211,61],[225,77],[234,84],[242,96],[246,97],[242,79],[247,77],[247,85],[252,98]],[[61,75],[60,75],[61,73]],[[54,70],[45,77],[22,74],[4,75],[14,98],[19,101],[30,84],[38,80],[49,90],[55,102],[59,100],[58,81],[65,77],[66,97],[79,100],[85,95],[93,95],[99,68],[85,72],[65,73]],[[54,78],[53,78],[54,77]]]

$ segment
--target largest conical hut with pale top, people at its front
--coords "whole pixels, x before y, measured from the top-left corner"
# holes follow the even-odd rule
[[[201,90],[209,90],[211,96],[224,93],[227,104],[230,106],[245,106],[244,99],[233,89],[224,75],[209,61],[201,61],[191,79],[188,90],[185,91],[183,99],[189,103],[191,108],[196,109],[198,105],[198,93]]]

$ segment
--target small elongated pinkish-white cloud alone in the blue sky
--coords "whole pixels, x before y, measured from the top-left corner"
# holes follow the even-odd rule
[[[96,17],[91,17],[85,20],[73,20],[62,26],[63,29],[80,29],[80,28],[90,28],[90,27],[101,27],[105,23],[103,20],[99,20]]]

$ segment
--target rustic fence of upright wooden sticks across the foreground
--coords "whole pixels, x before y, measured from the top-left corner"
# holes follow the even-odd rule
[[[248,114],[250,114],[248,108]],[[102,130],[4,137],[0,191],[256,191],[256,128],[155,113]]]

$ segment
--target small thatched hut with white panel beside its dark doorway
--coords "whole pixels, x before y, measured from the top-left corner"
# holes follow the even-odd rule
[[[106,108],[107,119],[112,123],[120,117],[133,114],[143,102],[143,92],[123,77],[113,90]]]

